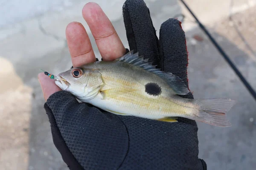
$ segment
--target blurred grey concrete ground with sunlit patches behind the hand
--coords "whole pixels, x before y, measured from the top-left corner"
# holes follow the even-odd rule
[[[90,34],[81,16],[85,3],[92,1],[102,6],[128,47],[122,21],[125,0],[48,1],[29,0],[26,6],[17,0],[0,3],[0,167],[3,170],[67,169],[52,142],[37,74],[40,68],[55,74],[70,68],[65,28],[68,23],[79,21]],[[254,169],[256,101],[180,3],[145,2],[157,34],[165,20],[185,14],[182,26],[189,51],[189,88],[194,97],[228,97],[238,101],[228,114],[232,127],[198,123],[199,157],[210,170]],[[186,2],[256,90],[256,0]],[[100,58],[94,40],[92,43]]]

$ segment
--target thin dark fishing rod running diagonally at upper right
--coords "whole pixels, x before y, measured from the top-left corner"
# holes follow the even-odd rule
[[[236,75],[240,78],[240,80],[243,82],[243,84],[245,85],[245,87],[247,88],[247,90],[250,92],[250,94],[253,96],[253,98],[256,100],[256,92],[253,90],[253,88],[251,87],[251,85],[249,84],[249,82],[247,82],[247,80],[243,77],[243,75],[241,74],[241,72],[238,70],[238,68],[236,68],[236,65],[233,64],[233,62],[230,60],[230,57],[227,56],[227,54],[224,52],[224,50],[220,47],[220,45],[218,45],[218,43],[213,39],[213,37],[211,36],[211,34],[209,33],[209,31],[207,31],[207,29],[204,27],[204,25],[198,20],[198,18],[195,16],[195,14],[191,11],[191,9],[189,8],[189,6],[187,6],[187,4],[183,1],[180,0],[184,6],[189,10],[190,14],[192,14],[192,16],[195,18],[195,20],[197,21],[198,25],[200,26],[200,28],[204,31],[205,34],[207,34],[207,36],[209,37],[209,39],[211,40],[211,42],[215,45],[215,47],[218,49],[218,51],[221,53],[221,55],[224,57],[224,59],[227,61],[227,63],[230,65],[230,67],[233,69],[233,71],[235,71]]]

